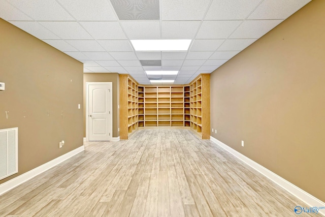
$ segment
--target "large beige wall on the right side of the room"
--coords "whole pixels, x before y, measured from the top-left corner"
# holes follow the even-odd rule
[[[211,74],[211,136],[322,201],[324,10],[312,1]]]

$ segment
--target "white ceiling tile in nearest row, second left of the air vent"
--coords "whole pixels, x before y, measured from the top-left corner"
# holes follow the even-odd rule
[[[38,21],[67,21],[75,20],[56,1],[52,0],[10,0],[10,4],[28,14],[32,19]]]

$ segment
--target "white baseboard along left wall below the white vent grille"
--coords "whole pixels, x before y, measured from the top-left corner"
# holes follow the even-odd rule
[[[6,181],[5,183],[0,184],[0,195],[5,194],[6,192],[16,188],[18,185],[28,181],[29,179],[45,172],[48,169],[51,169],[57,164],[68,160],[69,158],[75,156],[77,153],[83,151],[84,149],[85,149],[84,146],[80,146],[79,148],[76,148],[68,153],[65,153],[62,156],[53,159],[52,161],[49,161],[35,169],[29,170],[28,172],[25,172],[13,179],[10,179],[9,181]]]

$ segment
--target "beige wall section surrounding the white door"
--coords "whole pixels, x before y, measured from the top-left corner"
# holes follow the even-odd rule
[[[118,73],[84,73],[84,108],[86,108],[86,82],[112,82],[113,85],[113,137],[119,137],[119,77]],[[83,135],[86,137],[86,109],[84,109]]]

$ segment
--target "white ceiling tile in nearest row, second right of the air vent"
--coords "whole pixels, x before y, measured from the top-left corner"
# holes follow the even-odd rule
[[[213,0],[206,20],[243,20],[261,0]]]

